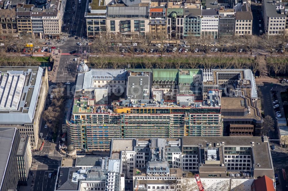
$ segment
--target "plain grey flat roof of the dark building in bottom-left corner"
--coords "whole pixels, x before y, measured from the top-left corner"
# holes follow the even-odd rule
[[[3,177],[7,171],[5,168],[11,154],[10,149],[12,148],[15,135],[16,128],[0,128],[0,190],[2,190]]]

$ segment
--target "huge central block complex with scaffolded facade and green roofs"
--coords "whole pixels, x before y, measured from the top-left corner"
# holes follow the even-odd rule
[[[78,73],[68,143],[93,151],[115,138],[260,136],[255,100],[249,69],[92,69]]]

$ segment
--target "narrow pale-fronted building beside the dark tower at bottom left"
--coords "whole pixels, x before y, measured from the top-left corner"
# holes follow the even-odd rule
[[[19,185],[27,185],[30,167],[32,164],[32,152],[29,136],[21,136],[17,150],[17,165],[19,173]]]

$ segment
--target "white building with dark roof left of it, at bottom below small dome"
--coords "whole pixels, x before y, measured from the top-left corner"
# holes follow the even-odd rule
[[[93,167],[58,167],[54,191],[124,191],[120,160],[102,158]]]

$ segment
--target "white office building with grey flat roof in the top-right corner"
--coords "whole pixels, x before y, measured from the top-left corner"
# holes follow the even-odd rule
[[[285,7],[288,4],[280,1],[263,1],[261,6],[265,33],[267,35],[282,34],[287,28]]]

